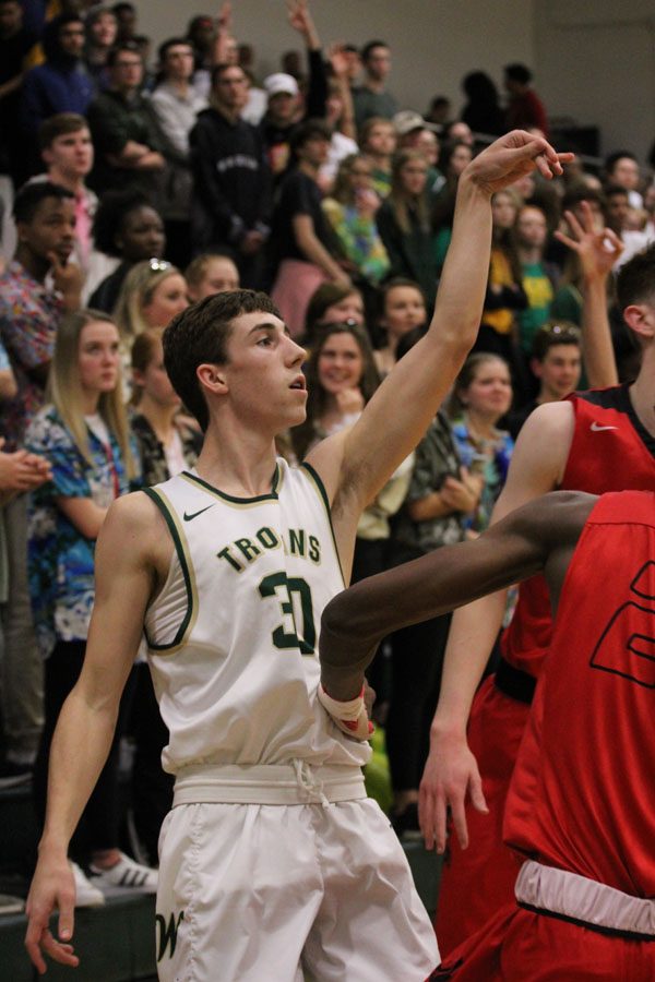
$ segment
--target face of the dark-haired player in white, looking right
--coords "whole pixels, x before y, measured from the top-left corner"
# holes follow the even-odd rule
[[[255,311],[235,318],[221,376],[236,417],[273,433],[302,422],[306,358],[274,314]]]

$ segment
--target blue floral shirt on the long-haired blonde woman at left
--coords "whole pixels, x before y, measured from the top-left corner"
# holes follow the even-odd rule
[[[57,498],[90,498],[108,507],[131,490],[120,447],[109,447],[90,429],[93,466],[73,443],[57,409],[46,406],[32,421],[26,445],[50,462],[52,480],[31,496],[27,539],[29,595],[44,657],[58,640],[85,640],[94,601],[95,540],[87,539],[57,506]],[[134,459],[138,453],[133,447]]]

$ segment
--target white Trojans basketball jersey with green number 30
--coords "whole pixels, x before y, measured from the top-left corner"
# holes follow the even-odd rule
[[[166,770],[198,764],[365,764],[317,700],[321,613],[344,588],[327,498],[279,459],[271,492],[224,494],[193,471],[145,492],[175,542],[145,619],[170,731]]]

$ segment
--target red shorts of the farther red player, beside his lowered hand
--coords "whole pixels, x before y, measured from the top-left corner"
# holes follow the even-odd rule
[[[499,692],[493,678],[480,686],[471,711],[468,745],[483,777],[489,814],[466,809],[469,846],[452,834],[443,864],[437,908],[437,941],[442,957],[475,934],[499,908],[514,902],[523,860],[502,842],[502,819],[529,706]]]

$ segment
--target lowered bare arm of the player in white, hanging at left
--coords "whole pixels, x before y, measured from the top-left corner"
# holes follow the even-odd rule
[[[62,965],[79,963],[71,945],[75,890],[68,846],[109,753],[120,696],[139,649],[155,584],[146,561],[148,543],[154,532],[159,540],[166,538],[154,526],[158,520],[145,495],[129,495],[111,506],[98,538],[96,596],[84,667],[52,739],[46,823],[26,906],[25,946],[41,973],[46,971],[44,955]],[[55,908],[59,909],[58,938],[48,930]]]

